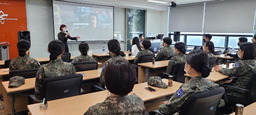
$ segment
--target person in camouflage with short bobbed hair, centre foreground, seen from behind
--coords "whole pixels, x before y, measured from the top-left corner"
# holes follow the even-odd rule
[[[105,70],[105,85],[110,92],[102,102],[91,106],[85,115],[143,115],[143,100],[133,90],[136,72],[125,60],[113,60]]]

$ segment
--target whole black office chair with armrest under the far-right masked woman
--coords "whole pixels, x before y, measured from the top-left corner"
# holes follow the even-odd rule
[[[231,106],[235,106],[235,104],[239,103],[244,106],[248,106],[249,104],[252,104],[256,102],[256,73],[253,73],[251,79],[246,85],[246,88],[240,88],[236,86],[231,86],[231,85],[224,85],[224,88],[233,88],[237,89],[239,91],[245,91],[246,92],[246,97],[244,99],[238,98],[238,97],[233,97],[226,95],[227,98],[225,98],[225,104],[229,104]]]

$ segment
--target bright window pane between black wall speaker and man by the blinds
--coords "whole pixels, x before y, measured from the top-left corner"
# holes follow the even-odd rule
[[[192,46],[202,46],[203,36],[201,35],[187,35],[187,44]]]

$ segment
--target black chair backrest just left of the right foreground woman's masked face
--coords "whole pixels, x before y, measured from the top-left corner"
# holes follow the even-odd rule
[[[184,74],[186,72],[184,71],[184,68],[185,68],[185,62],[181,62],[181,63],[177,64],[177,66],[176,66],[176,68],[174,69],[174,72],[173,72],[173,75],[174,75],[173,80],[174,81],[177,81],[179,83],[185,83]]]

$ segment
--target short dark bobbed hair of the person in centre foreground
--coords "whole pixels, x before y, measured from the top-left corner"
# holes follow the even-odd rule
[[[119,96],[125,96],[133,90],[136,72],[129,62],[114,60],[108,64],[104,77],[108,91]]]

